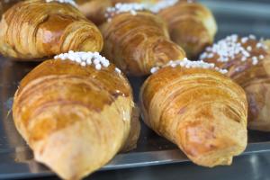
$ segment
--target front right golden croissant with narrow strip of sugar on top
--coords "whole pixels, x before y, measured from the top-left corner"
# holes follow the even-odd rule
[[[201,166],[230,165],[247,146],[246,94],[217,71],[226,73],[202,61],[171,61],[139,95],[148,127]]]

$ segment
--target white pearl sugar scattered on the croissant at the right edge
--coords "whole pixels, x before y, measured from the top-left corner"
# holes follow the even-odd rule
[[[237,34],[230,35],[223,40],[219,40],[213,44],[212,47],[206,48],[206,51],[202,53],[200,59],[213,58],[214,55],[218,55],[217,61],[227,62],[230,59],[236,58],[238,55],[241,56],[241,61],[246,61],[251,58],[252,64],[257,65],[258,59],[263,59],[263,55],[258,57],[251,57],[251,52],[256,49],[267,49],[266,45],[261,41],[257,42],[256,48],[251,46],[244,46],[248,40],[257,40],[255,35],[249,35],[239,39]]]

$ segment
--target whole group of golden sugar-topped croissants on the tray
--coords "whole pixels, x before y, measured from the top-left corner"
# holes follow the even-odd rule
[[[0,16],[0,53],[43,61],[14,94],[16,129],[63,179],[136,148],[139,112],[200,166],[230,165],[247,127],[270,131],[269,43],[232,34],[213,44],[202,4],[5,0]],[[148,76],[138,106],[125,75]]]

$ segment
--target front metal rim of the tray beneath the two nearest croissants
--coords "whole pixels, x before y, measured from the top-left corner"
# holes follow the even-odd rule
[[[270,141],[249,143],[247,144],[246,150],[236,157],[264,152],[270,152]],[[3,154],[5,153],[0,153],[0,157],[3,156]],[[192,161],[189,160],[184,153],[177,148],[148,152],[130,152],[116,155],[107,165],[103,166],[98,171],[186,162]],[[31,170],[30,166],[35,166],[35,170]],[[56,174],[49,170],[48,167],[36,162],[34,159],[22,163],[0,162],[0,179],[23,179],[51,175]]]

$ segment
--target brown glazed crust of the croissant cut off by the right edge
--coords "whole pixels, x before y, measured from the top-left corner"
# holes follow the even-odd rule
[[[247,40],[243,45],[251,47],[250,58],[241,61],[242,55],[230,58],[227,62],[219,62],[219,55],[213,53],[212,58],[205,61],[229,70],[228,76],[241,85],[248,99],[248,128],[251,130],[270,131],[270,53],[266,49],[257,49],[257,40]],[[251,58],[263,55],[255,66]]]

